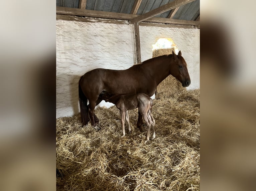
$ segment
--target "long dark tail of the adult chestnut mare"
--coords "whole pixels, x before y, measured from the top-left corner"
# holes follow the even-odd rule
[[[87,97],[84,95],[80,82],[82,80],[83,76],[81,76],[79,83],[78,83],[78,94],[79,94],[79,104],[80,104],[80,114],[81,114],[81,120],[83,125],[87,125],[89,121],[89,115],[88,115],[88,105],[87,105]]]

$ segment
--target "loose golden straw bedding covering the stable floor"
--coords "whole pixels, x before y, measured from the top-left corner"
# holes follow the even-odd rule
[[[115,106],[95,110],[100,131],[81,127],[79,115],[56,119],[57,190],[199,190],[199,100],[200,90],[154,99],[156,138],[146,144],[138,109],[129,111],[132,133],[126,125],[123,138]]]

